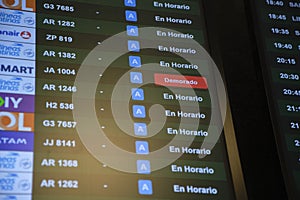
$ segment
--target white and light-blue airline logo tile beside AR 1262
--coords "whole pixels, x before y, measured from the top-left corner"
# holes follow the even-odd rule
[[[32,173],[0,173],[0,193],[30,194],[32,191]]]

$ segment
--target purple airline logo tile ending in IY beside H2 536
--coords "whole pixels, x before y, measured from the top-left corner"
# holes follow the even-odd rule
[[[0,93],[0,110],[11,112],[34,112],[34,96]]]

